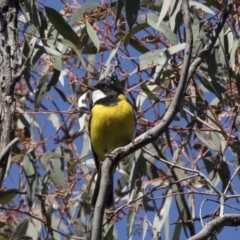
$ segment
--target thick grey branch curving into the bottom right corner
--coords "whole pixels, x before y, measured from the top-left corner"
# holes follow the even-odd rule
[[[208,239],[214,232],[217,232],[222,227],[238,227],[240,226],[240,214],[226,214],[223,217],[218,217],[207,223],[204,228],[196,235],[188,240]]]

